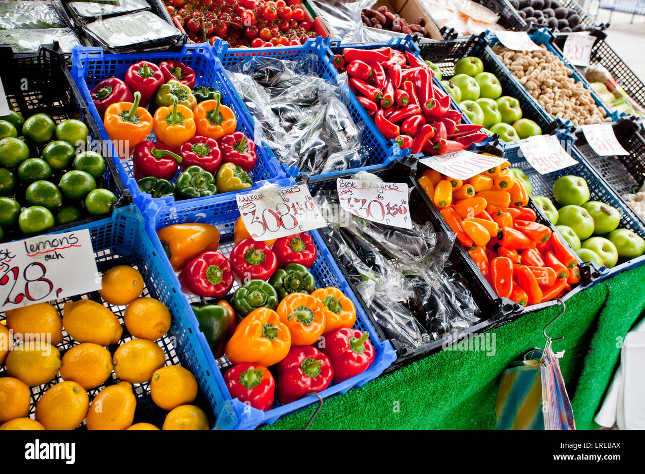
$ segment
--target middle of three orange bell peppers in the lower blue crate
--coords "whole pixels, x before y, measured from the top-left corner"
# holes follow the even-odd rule
[[[284,297],[275,311],[289,328],[294,346],[311,346],[323,334],[323,303],[312,295],[291,293]]]

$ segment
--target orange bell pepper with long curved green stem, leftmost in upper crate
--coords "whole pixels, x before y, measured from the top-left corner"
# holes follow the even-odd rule
[[[130,156],[132,150],[152,132],[152,115],[139,107],[141,93],[134,93],[134,103],[115,102],[106,108],[103,125],[110,140],[114,142],[121,158]],[[123,142],[124,146],[119,146]]]

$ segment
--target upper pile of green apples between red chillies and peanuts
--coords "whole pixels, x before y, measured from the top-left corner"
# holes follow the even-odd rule
[[[537,123],[522,118],[519,101],[502,95],[499,79],[490,72],[484,72],[484,63],[479,57],[459,59],[455,64],[455,75],[450,81],[441,81],[441,84],[472,123],[497,133],[502,140],[511,142],[542,135]]]

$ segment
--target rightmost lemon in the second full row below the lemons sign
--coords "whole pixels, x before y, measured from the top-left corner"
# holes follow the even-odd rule
[[[164,366],[164,351],[148,339],[133,339],[114,352],[114,373],[131,384],[148,382],[155,370]]]

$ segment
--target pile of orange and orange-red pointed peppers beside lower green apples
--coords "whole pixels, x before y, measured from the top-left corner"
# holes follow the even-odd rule
[[[509,167],[463,182],[428,169],[419,184],[497,295],[530,306],[561,297],[581,275],[569,246],[525,207],[528,194]]]

